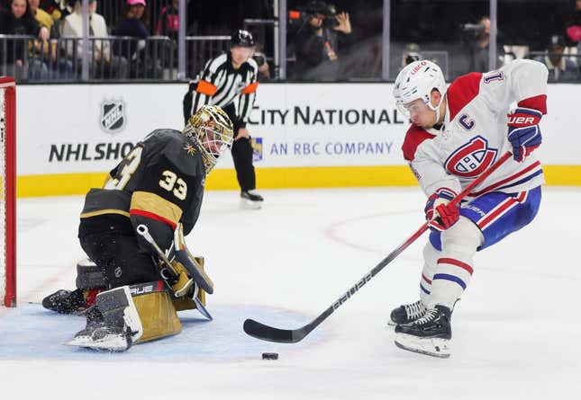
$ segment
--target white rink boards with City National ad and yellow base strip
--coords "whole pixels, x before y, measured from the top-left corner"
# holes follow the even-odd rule
[[[17,92],[21,195],[82,193],[153,129],[183,128],[186,84],[21,85]],[[247,128],[259,186],[406,185],[400,147],[408,121],[393,84],[260,84]],[[550,182],[579,184],[576,114],[581,86],[549,85],[539,154]],[[569,100],[567,100],[569,99]],[[576,175],[576,176],[574,176]],[[235,189],[231,157],[209,188]],[[98,182],[98,183],[97,183]]]

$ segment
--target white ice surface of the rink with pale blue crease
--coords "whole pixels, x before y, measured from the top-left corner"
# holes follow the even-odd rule
[[[237,193],[208,192],[186,238],[216,284],[214,321],[186,312],[183,333],[122,354],[62,345],[83,319],[38,305],[74,285],[82,197],[19,200],[19,307],[0,308],[0,397],[580,398],[581,190],[546,188],[531,226],[477,254],[449,360],[397,349],[386,326],[417,299],[426,236],[303,342],[242,333],[246,317],[310,321],[422,224],[418,188],[261,193],[263,209],[241,210]]]

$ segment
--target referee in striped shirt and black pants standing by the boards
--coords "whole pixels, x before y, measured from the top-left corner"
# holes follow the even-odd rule
[[[189,85],[184,96],[184,119],[187,121],[204,104],[220,106],[228,113],[234,124],[231,153],[241,186],[242,205],[259,209],[263,199],[256,192],[250,132],[246,129],[259,85],[259,67],[251,58],[253,50],[254,40],[249,31],[234,32],[230,52],[208,61]]]

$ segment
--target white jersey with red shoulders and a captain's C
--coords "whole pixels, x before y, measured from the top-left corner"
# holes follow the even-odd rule
[[[512,146],[507,114],[512,106],[547,113],[547,67],[516,60],[486,74],[460,76],[449,85],[441,130],[408,129],[402,150],[427,196],[440,188],[457,194]],[[535,153],[524,162],[510,158],[467,197],[488,191],[526,191],[544,183]]]

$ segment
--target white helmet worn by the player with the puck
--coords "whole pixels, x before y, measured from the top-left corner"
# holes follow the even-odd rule
[[[409,117],[409,112],[405,109],[404,104],[422,99],[432,111],[436,111],[436,120],[440,120],[440,104],[434,107],[430,102],[432,89],[437,89],[441,98],[444,98],[446,81],[440,67],[425,59],[413,61],[404,67],[395,78],[395,105],[399,111]]]

